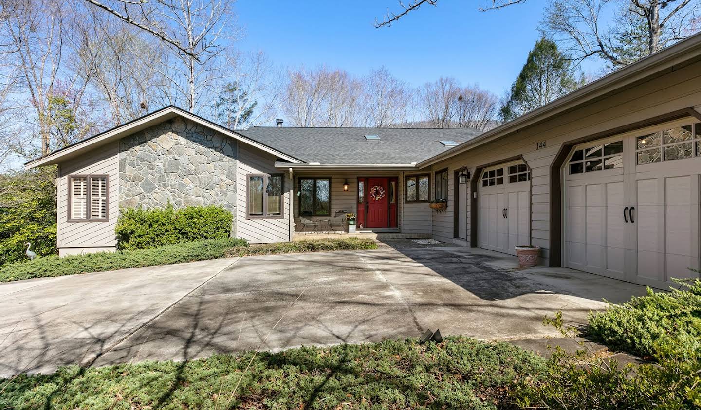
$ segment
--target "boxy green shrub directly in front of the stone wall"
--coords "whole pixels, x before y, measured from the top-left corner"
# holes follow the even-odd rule
[[[118,248],[143,249],[193,240],[229,238],[233,215],[222,207],[184,207],[175,210],[128,208],[120,212],[114,233]]]

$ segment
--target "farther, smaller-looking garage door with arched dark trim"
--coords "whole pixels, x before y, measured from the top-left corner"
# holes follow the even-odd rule
[[[515,246],[530,243],[531,172],[524,163],[508,163],[480,178],[479,246],[515,255]]]

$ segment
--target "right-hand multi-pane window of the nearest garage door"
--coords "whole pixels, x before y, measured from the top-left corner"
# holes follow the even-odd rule
[[[701,155],[701,135],[698,128],[698,124],[684,125],[636,137],[637,164],[691,158],[694,156],[694,144],[696,155]]]

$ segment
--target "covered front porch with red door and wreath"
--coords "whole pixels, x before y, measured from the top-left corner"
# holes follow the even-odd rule
[[[428,190],[428,174],[423,172]],[[411,201],[407,202],[407,178]],[[294,170],[294,238],[397,235],[430,238],[428,200],[416,200],[416,172],[404,170]],[[427,194],[428,195],[428,194]],[[349,222],[355,216],[355,232]],[[352,224],[351,224],[352,226]],[[350,231],[350,232],[349,232]]]

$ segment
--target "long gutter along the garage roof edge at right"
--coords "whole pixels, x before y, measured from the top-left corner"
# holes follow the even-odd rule
[[[534,109],[533,111],[509,121],[508,123],[499,125],[493,130],[489,130],[475,138],[470,139],[469,141],[463,142],[454,148],[423,160],[421,163],[418,163],[417,166],[418,168],[423,168],[428,165],[432,165],[440,160],[450,158],[458,153],[463,153],[479,145],[486,144],[494,139],[498,139],[498,137],[516,132],[522,128],[526,128],[529,125],[533,125],[534,123],[545,121],[552,116],[566,111],[567,109],[578,107],[596,97],[600,97],[601,95],[610,93],[613,90],[627,86],[628,84],[644,78],[645,76],[654,74],[654,72],[659,72],[664,69],[674,67],[674,64],[691,60],[693,57],[698,55],[701,55],[701,33],[694,34],[688,39],[679,41],[679,43],[664,48],[657,53],[648,55],[647,57],[623,67],[622,69],[613,71],[613,73],[603,76],[596,81],[592,81],[578,90],[574,90],[573,92],[564,95],[557,100],[545,104],[543,107]],[[662,66],[661,64],[665,65]],[[656,67],[657,69],[655,69],[653,72],[646,72],[651,71],[651,69],[653,69],[655,66],[660,67]]]

